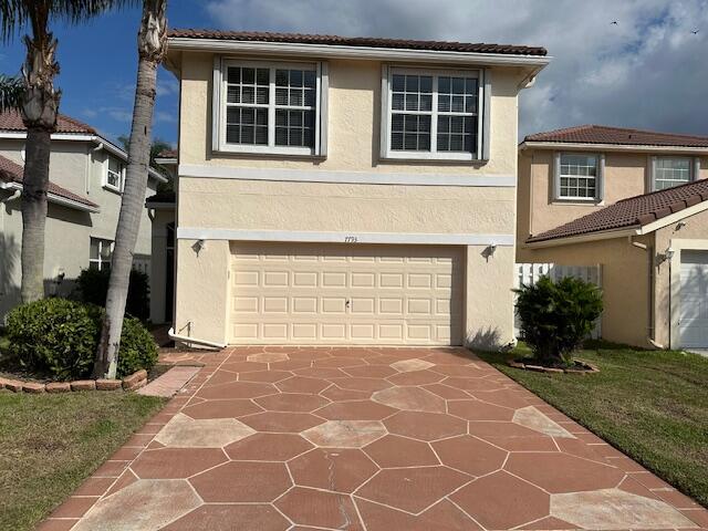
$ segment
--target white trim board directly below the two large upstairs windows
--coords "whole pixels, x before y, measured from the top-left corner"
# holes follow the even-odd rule
[[[239,180],[285,180],[358,185],[486,186],[512,188],[514,175],[399,174],[388,171],[329,171],[321,169],[261,169],[180,164],[179,177]]]

